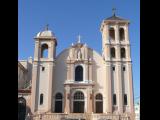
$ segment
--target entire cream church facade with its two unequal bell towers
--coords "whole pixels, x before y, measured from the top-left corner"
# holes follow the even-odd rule
[[[34,38],[34,58],[26,61],[31,66],[26,67],[30,86],[19,88],[19,98],[29,108],[26,118],[133,120],[128,27],[129,21],[115,14],[103,20],[101,54],[79,38],[56,55],[61,43],[53,32],[48,28],[39,32]]]

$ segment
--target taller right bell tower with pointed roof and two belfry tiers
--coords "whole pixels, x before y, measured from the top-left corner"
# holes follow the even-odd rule
[[[104,19],[102,57],[106,64],[107,113],[134,113],[129,21],[113,15]]]

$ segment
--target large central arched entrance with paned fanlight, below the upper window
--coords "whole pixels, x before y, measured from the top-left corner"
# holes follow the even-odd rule
[[[73,98],[73,112],[84,113],[84,94],[81,91],[77,91]]]

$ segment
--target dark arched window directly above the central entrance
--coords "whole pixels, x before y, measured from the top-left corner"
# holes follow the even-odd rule
[[[83,81],[83,67],[77,66],[75,69],[75,81]]]

